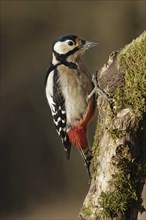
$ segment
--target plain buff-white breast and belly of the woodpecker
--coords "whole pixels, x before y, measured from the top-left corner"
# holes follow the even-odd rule
[[[67,67],[60,66],[59,72],[62,71],[63,74],[60,74],[59,82],[65,98],[67,125],[75,125],[87,109],[88,92],[80,77],[76,75],[76,70],[69,71]]]

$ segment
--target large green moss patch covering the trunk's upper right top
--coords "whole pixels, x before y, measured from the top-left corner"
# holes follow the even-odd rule
[[[136,113],[146,111],[146,32],[118,55],[117,64],[124,73],[124,83],[114,92],[116,110],[132,107]]]

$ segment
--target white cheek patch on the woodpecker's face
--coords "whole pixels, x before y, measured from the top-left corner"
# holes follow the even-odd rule
[[[73,48],[74,48],[74,45],[69,46],[67,41],[65,42],[58,41],[54,45],[54,51],[57,52],[58,54],[66,54]]]

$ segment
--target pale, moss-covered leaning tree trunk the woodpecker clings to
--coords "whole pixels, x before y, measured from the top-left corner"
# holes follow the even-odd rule
[[[98,72],[91,184],[80,220],[136,220],[146,176],[146,32]]]

